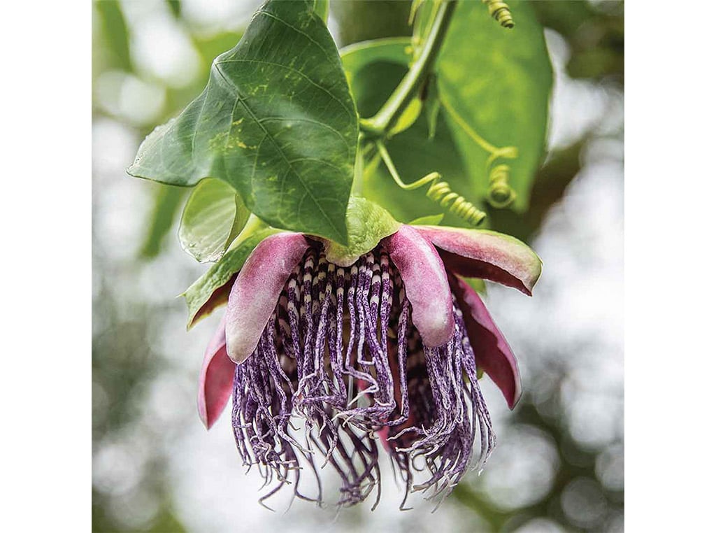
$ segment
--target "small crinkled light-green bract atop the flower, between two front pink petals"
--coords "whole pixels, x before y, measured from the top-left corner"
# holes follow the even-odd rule
[[[400,224],[384,208],[352,196],[348,203],[348,246],[324,241],[326,259],[341,267],[349,267],[363,254],[374,249],[381,239],[394,234]]]

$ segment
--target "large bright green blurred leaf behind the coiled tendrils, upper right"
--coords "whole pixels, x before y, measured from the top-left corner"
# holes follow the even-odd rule
[[[543,29],[528,2],[513,0],[515,28],[505,30],[479,2],[460,2],[437,64],[440,100],[473,178],[473,193],[488,194],[488,153],[477,133],[496,147],[515,146],[509,184],[516,211],[528,207],[543,156],[552,69]]]

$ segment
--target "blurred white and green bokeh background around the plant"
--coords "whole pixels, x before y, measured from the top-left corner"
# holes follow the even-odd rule
[[[385,465],[383,499],[337,513],[258,505],[230,417],[207,432],[197,378],[218,314],[185,331],[178,294],[206,268],[175,238],[187,190],[125,175],[141,140],[203,89],[256,0],[92,4],[92,527],[95,532],[618,532],[624,529],[624,6],[539,1],[555,72],[548,157],[528,213],[493,229],[544,261],[533,298],[489,287],[521,365],[514,411],[480,385],[498,434],[487,468],[436,512]],[[410,2],[332,2],[339,44],[408,34]]]

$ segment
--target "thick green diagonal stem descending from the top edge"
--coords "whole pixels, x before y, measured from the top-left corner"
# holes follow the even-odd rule
[[[448,34],[450,19],[455,13],[456,5],[455,0],[444,0],[440,4],[420,56],[380,110],[373,117],[361,120],[361,129],[367,136],[383,137],[395,125],[410,101],[420,92],[423,83],[432,72],[437,55],[440,54],[440,47],[445,40],[445,35]]]

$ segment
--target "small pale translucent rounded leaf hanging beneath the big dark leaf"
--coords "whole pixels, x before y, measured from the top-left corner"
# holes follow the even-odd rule
[[[246,224],[249,211],[236,198],[233,187],[213,178],[192,191],[179,223],[179,241],[197,261],[219,259]]]

